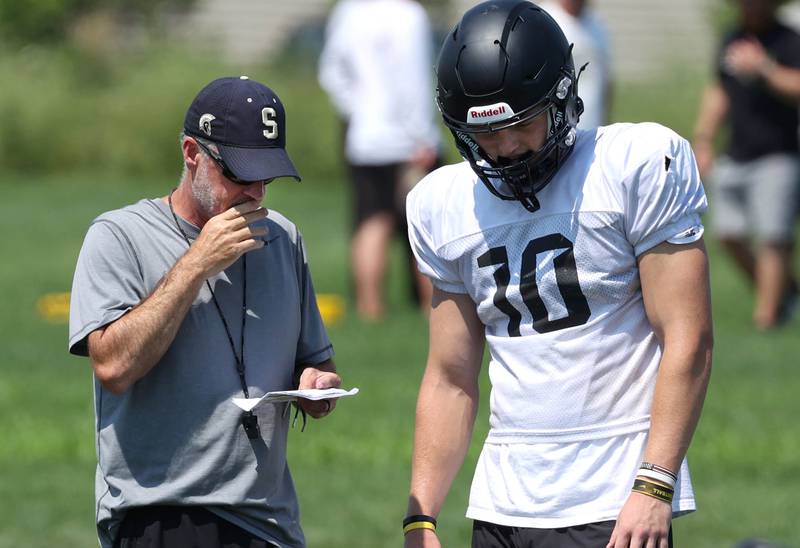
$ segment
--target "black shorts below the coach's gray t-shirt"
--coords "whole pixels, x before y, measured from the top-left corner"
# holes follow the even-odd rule
[[[143,506],[128,510],[114,548],[273,548],[199,506]]]

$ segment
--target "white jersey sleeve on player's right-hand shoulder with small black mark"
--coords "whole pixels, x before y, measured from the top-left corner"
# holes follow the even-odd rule
[[[625,177],[625,227],[637,256],[665,241],[699,240],[708,207],[689,143],[663,126],[642,125],[646,134],[632,135],[626,151],[642,160]]]

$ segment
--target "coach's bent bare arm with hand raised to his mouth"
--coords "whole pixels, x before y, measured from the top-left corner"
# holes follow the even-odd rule
[[[251,201],[211,218],[144,301],[89,334],[89,359],[104,388],[121,394],[158,363],[206,278],[247,251],[264,246],[258,236],[265,235],[266,229],[249,226],[264,217],[266,210]]]

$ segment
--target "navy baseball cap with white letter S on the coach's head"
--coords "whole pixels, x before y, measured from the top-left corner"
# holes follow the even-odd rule
[[[286,153],[286,110],[264,84],[247,76],[214,80],[197,94],[183,122],[187,135],[211,141],[242,181],[294,177]]]

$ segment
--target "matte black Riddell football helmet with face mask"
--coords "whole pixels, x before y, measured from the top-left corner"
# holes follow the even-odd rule
[[[572,152],[583,112],[572,46],[558,24],[531,2],[483,2],[448,34],[436,72],[436,102],[461,155],[492,194],[539,209],[536,193]],[[547,140],[523,157],[496,162],[472,137],[542,113]]]

